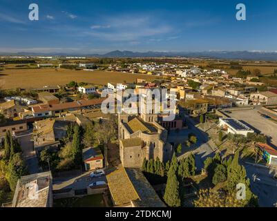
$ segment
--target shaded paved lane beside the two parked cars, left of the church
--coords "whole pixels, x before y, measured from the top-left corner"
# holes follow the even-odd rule
[[[91,171],[85,172],[77,177],[59,177],[53,179],[53,190],[59,189],[86,189],[86,187],[97,181],[106,181],[106,176],[91,178]]]

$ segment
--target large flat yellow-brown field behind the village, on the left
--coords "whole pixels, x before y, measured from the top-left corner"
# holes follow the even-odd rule
[[[15,69],[0,72],[0,87],[11,88],[37,88],[42,86],[65,85],[70,81],[87,82],[93,84],[133,83],[137,78],[147,81],[157,79],[155,75],[138,75],[131,73],[117,73],[106,71],[86,71],[67,69]]]

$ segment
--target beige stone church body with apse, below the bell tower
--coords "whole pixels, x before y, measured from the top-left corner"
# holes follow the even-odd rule
[[[124,167],[140,168],[146,160],[158,157],[171,159],[171,144],[166,143],[167,131],[157,122],[149,122],[135,115],[119,115],[120,160]]]

